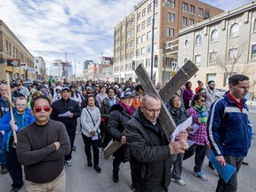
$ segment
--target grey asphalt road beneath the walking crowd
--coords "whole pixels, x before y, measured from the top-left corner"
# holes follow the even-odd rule
[[[251,118],[253,131],[256,132],[256,107],[250,106],[249,116]],[[84,154],[84,144],[80,133],[76,135],[77,150],[73,153],[73,165],[65,167],[67,176],[67,192],[130,192],[131,174],[128,163],[121,164],[119,173],[119,183],[112,181],[112,157],[105,160],[100,155],[100,167],[102,172],[97,173],[93,168],[87,166],[86,157]],[[248,156],[245,157],[249,165],[242,165],[238,175],[238,189],[241,192],[256,191],[256,139],[252,140],[252,147]],[[215,191],[218,174],[208,167],[208,159],[204,159],[203,172],[208,177],[208,180],[200,180],[193,175],[194,156],[183,162],[182,178],[186,182],[186,186],[181,187],[176,183],[171,182],[169,191],[179,192],[213,192]],[[0,191],[9,192],[11,190],[12,180],[9,174],[0,175]],[[20,192],[24,192],[24,188]]]

